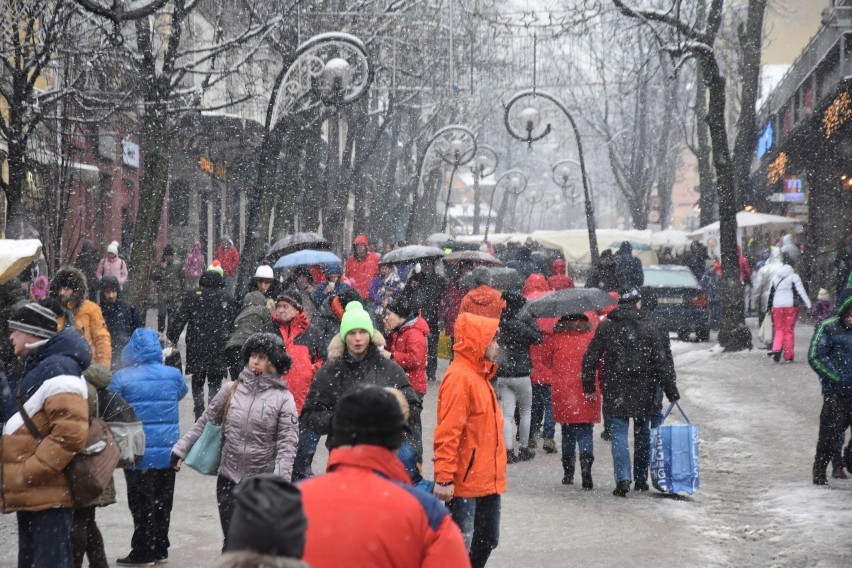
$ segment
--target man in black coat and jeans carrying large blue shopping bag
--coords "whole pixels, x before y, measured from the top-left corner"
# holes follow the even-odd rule
[[[597,395],[597,374],[601,370],[603,413],[610,420],[612,461],[616,487],[613,495],[626,497],[630,482],[634,489],[648,490],[650,460],[650,417],[658,384],[670,402],[680,399],[669,368],[660,332],[650,318],[639,313],[642,297],[636,288],[619,293],[618,307],[595,331],[583,356],[583,392]],[[633,475],[627,430],[633,419]]]

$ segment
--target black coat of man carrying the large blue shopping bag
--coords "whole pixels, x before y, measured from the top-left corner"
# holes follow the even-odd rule
[[[604,414],[651,416],[658,384],[669,400],[680,398],[669,361],[656,326],[632,305],[621,305],[598,327],[586,350],[583,391],[594,394],[598,364],[603,363]]]

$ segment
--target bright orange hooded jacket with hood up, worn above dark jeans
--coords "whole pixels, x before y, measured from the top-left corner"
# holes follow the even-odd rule
[[[490,378],[497,365],[485,349],[499,320],[460,314],[455,357],[438,390],[435,428],[435,481],[453,482],[457,497],[484,497],[506,491],[503,413]]]

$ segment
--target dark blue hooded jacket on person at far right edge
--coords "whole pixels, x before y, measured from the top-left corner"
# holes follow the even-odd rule
[[[808,363],[819,375],[823,396],[852,396],[852,327],[843,324],[843,314],[852,309],[852,288],[837,298],[837,312],[814,332]]]

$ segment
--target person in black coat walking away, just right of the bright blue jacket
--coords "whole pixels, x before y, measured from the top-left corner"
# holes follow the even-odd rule
[[[173,347],[186,327],[186,374],[192,375],[192,402],[195,419],[201,417],[204,403],[204,383],[208,400],[222,386],[228,369],[224,357],[225,345],[231,333],[236,305],[225,294],[222,269],[211,266],[198,281],[199,288],[187,292],[175,316],[174,325],[166,334]]]

